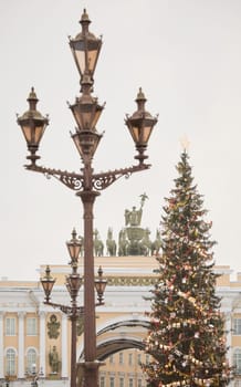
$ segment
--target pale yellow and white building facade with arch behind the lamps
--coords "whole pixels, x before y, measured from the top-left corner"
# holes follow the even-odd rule
[[[143,339],[147,335],[149,301],[144,296],[156,280],[157,261],[151,257],[98,257],[107,279],[105,305],[96,307],[97,357],[101,387],[145,387],[139,366],[149,360]],[[41,266],[39,276],[44,275]],[[82,268],[80,268],[80,271]],[[65,275],[70,268],[51,266],[56,279],[52,301],[70,304]],[[229,266],[217,266],[221,276],[217,294],[226,315],[229,362],[235,366],[233,386],[241,386],[241,273],[231,279]],[[0,386],[69,386],[71,326],[67,316],[44,305],[40,281],[0,281]],[[80,291],[80,305],[83,290]],[[77,359],[83,357],[83,322],[77,324]],[[80,376],[81,377],[81,376]]]

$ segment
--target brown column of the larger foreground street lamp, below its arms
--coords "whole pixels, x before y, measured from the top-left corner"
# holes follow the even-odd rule
[[[97,386],[93,207],[99,192],[78,192],[84,209],[84,386]]]

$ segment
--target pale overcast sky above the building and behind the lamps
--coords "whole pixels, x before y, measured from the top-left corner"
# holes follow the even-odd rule
[[[69,262],[72,228],[83,233],[82,203],[55,179],[27,171],[27,147],[15,113],[28,108],[35,87],[39,109],[50,114],[40,164],[78,171],[70,137],[74,119],[66,101],[80,92],[69,35],[75,36],[87,9],[103,49],[94,95],[106,107],[97,129],[105,132],[95,171],[133,165],[134,145],[124,125],[143,87],[159,114],[149,142],[153,167],[119,179],[95,203],[95,227],[117,239],[124,211],[146,192],[143,227],[159,227],[164,198],[177,176],[180,138],[218,242],[216,263],[241,271],[241,1],[240,0],[1,0],[1,266],[0,278],[36,280],[40,264]]]

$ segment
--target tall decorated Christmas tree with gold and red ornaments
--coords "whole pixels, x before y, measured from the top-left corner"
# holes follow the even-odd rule
[[[202,196],[193,185],[189,156],[182,151],[175,188],[161,220],[158,280],[151,290],[150,331],[143,365],[148,386],[226,386],[224,316],[216,295],[214,241],[205,220]]]

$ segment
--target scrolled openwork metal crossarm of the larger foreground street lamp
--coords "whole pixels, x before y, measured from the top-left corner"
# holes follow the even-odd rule
[[[34,164],[27,165],[25,168],[28,170],[32,170],[35,172],[41,172],[46,176],[46,178],[50,178],[51,176],[55,177],[59,181],[64,184],[66,187],[75,190],[75,191],[82,191],[85,189],[84,187],[84,176],[81,174],[75,172],[69,172],[67,170],[61,170],[61,169],[54,169],[54,168],[45,168],[41,166],[36,166]],[[109,170],[107,172],[99,172],[99,174],[93,174],[92,179],[92,187],[99,191],[107,187],[109,187],[114,181],[119,179],[120,177],[125,176],[128,178],[132,174],[142,171],[145,169],[149,169],[150,164],[139,164],[137,166],[132,166],[127,168],[120,168],[120,169],[114,169]]]

